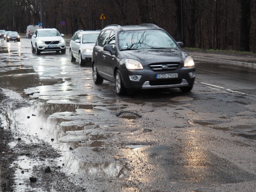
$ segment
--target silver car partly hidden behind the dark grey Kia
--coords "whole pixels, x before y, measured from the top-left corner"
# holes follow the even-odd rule
[[[70,61],[75,62],[78,59],[79,64],[92,62],[92,48],[100,34],[100,30],[83,31],[78,30],[70,40]]]

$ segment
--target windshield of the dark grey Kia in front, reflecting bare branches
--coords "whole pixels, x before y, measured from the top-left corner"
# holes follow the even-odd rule
[[[120,50],[176,48],[174,40],[162,30],[122,31],[118,35]]]

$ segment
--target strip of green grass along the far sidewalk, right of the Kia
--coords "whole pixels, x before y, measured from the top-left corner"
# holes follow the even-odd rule
[[[184,47],[184,50],[189,52],[206,52],[206,53],[213,53],[213,54],[256,56],[256,53],[254,52],[236,51],[236,50],[200,49],[200,48],[193,48],[193,47]]]

